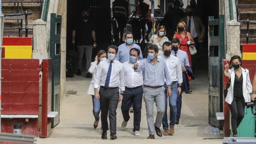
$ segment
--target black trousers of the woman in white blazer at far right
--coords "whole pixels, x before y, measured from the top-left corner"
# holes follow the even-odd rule
[[[229,104],[229,108],[233,135],[237,135],[237,127],[244,118],[244,97],[234,97],[232,103]]]

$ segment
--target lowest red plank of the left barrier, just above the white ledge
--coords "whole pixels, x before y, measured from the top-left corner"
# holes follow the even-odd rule
[[[39,115],[39,104],[2,104],[2,114]]]

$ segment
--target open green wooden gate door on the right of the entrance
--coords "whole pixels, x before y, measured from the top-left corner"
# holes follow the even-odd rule
[[[216,112],[223,111],[222,59],[225,57],[224,15],[208,18],[209,24],[209,124],[219,127]],[[214,27],[218,26],[218,31]],[[218,34],[216,33],[218,32]]]

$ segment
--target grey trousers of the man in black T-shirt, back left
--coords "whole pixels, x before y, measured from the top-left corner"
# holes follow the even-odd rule
[[[90,68],[90,64],[92,62],[92,45],[78,45],[78,69],[82,70],[82,62],[83,62],[83,54],[85,53],[86,57],[86,73]]]

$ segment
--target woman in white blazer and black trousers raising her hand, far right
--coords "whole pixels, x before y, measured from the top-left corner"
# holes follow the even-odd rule
[[[225,76],[228,76],[231,80],[225,101],[230,107],[233,137],[237,137],[237,127],[244,118],[244,103],[251,102],[249,94],[251,93],[252,87],[249,70],[241,66],[241,57],[235,55],[231,57],[230,64],[226,62],[224,71]]]

